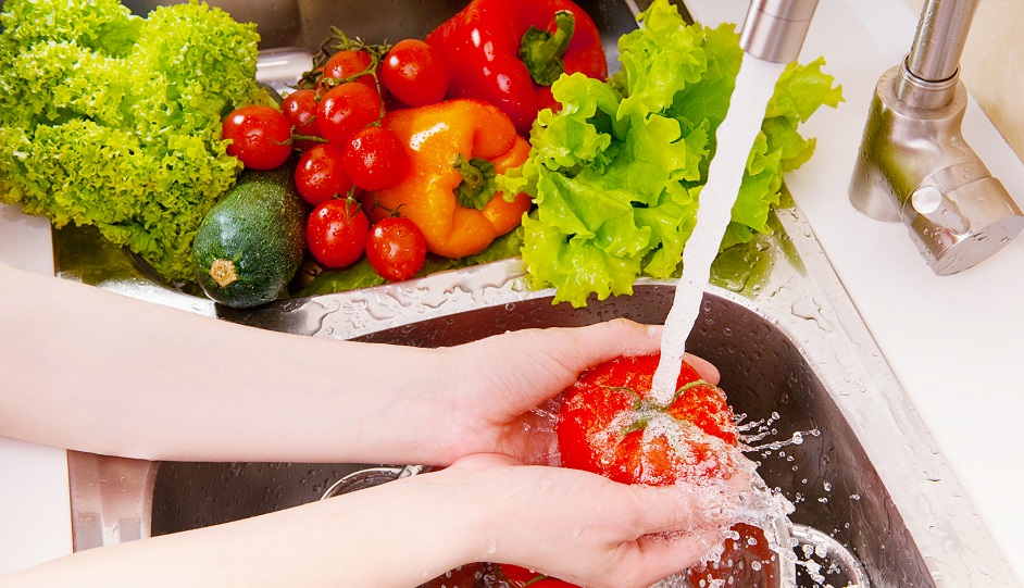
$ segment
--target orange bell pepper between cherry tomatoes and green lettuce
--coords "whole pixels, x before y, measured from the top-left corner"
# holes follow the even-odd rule
[[[529,210],[528,195],[508,201],[494,177],[529,155],[509,116],[480,100],[458,99],[388,112],[380,123],[402,140],[410,170],[391,188],[375,192],[375,221],[391,211],[416,224],[427,249],[446,258],[483,251],[512,230]]]

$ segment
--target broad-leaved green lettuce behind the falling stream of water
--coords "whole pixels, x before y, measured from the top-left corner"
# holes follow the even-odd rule
[[[540,112],[529,160],[499,178],[507,193],[526,191],[536,202],[523,221],[532,286],[553,286],[555,301],[575,306],[632,293],[640,275],[677,274],[742,61],[733,26],[687,25],[666,0],[640,21],[620,39],[622,67],[610,80],[555,82],[561,109]],[[769,230],[783,174],[814,151],[798,125],[842,100],[823,64],[794,63],[781,76],[723,248]]]

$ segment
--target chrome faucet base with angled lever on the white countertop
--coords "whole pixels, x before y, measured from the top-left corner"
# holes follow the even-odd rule
[[[850,201],[902,221],[938,275],[988,259],[1024,229],[1024,214],[964,141],[960,57],[977,0],[927,0],[910,53],[875,88]]]

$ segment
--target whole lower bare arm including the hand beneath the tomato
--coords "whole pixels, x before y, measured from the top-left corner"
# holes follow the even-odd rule
[[[721,510],[707,508],[707,498],[475,455],[323,502],[84,551],[0,586],[408,588],[495,561],[586,586],[646,587],[719,539],[732,515],[728,497]],[[657,536],[672,530],[683,533]]]

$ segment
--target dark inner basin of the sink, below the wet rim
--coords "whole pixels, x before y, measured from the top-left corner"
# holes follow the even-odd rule
[[[662,323],[672,304],[674,285],[639,284],[630,297],[595,301],[580,310],[553,305],[550,292],[510,292],[504,302],[496,297],[494,303],[479,308],[371,330],[355,339],[437,347],[510,329],[584,325],[614,316]],[[322,300],[304,305],[290,312],[315,315],[324,308]],[[337,311],[326,312],[300,324],[328,321],[329,313]],[[833,399],[832,395],[841,390],[829,390],[771,316],[759,314],[728,290],[710,288],[689,349],[720,366],[722,386],[737,412],[747,415],[746,422],[764,422],[761,428],[773,431],[757,445],[776,441],[778,447],[764,447],[751,458],[761,462],[759,471],[769,486],[784,489],[796,502],[790,517],[794,523],[848,546],[879,577],[892,578],[892,586],[931,586],[924,579],[928,576],[924,559],[892,498]],[[800,434],[802,442],[794,443],[794,434]],[[317,500],[333,481],[366,467],[162,463],[152,495],[152,534],[187,530]]]

